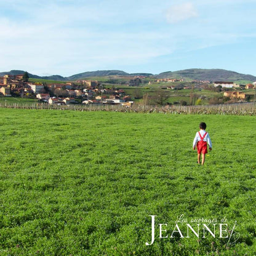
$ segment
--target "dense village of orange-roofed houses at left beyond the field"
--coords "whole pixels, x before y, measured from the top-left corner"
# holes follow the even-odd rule
[[[122,89],[105,89],[98,81],[82,80],[76,82],[42,84],[28,82],[23,74],[0,78],[0,94],[4,97],[31,97],[50,105],[68,104],[110,104],[132,106],[134,103]],[[108,95],[108,97],[106,96]]]

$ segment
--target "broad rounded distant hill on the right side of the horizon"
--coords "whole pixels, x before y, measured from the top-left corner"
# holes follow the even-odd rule
[[[164,72],[157,76],[158,78],[183,78],[193,80],[209,80],[209,81],[238,81],[250,80],[256,81],[256,76],[250,74],[239,74],[228,70],[203,70],[200,68],[193,68],[190,70],[179,70],[174,72]]]

